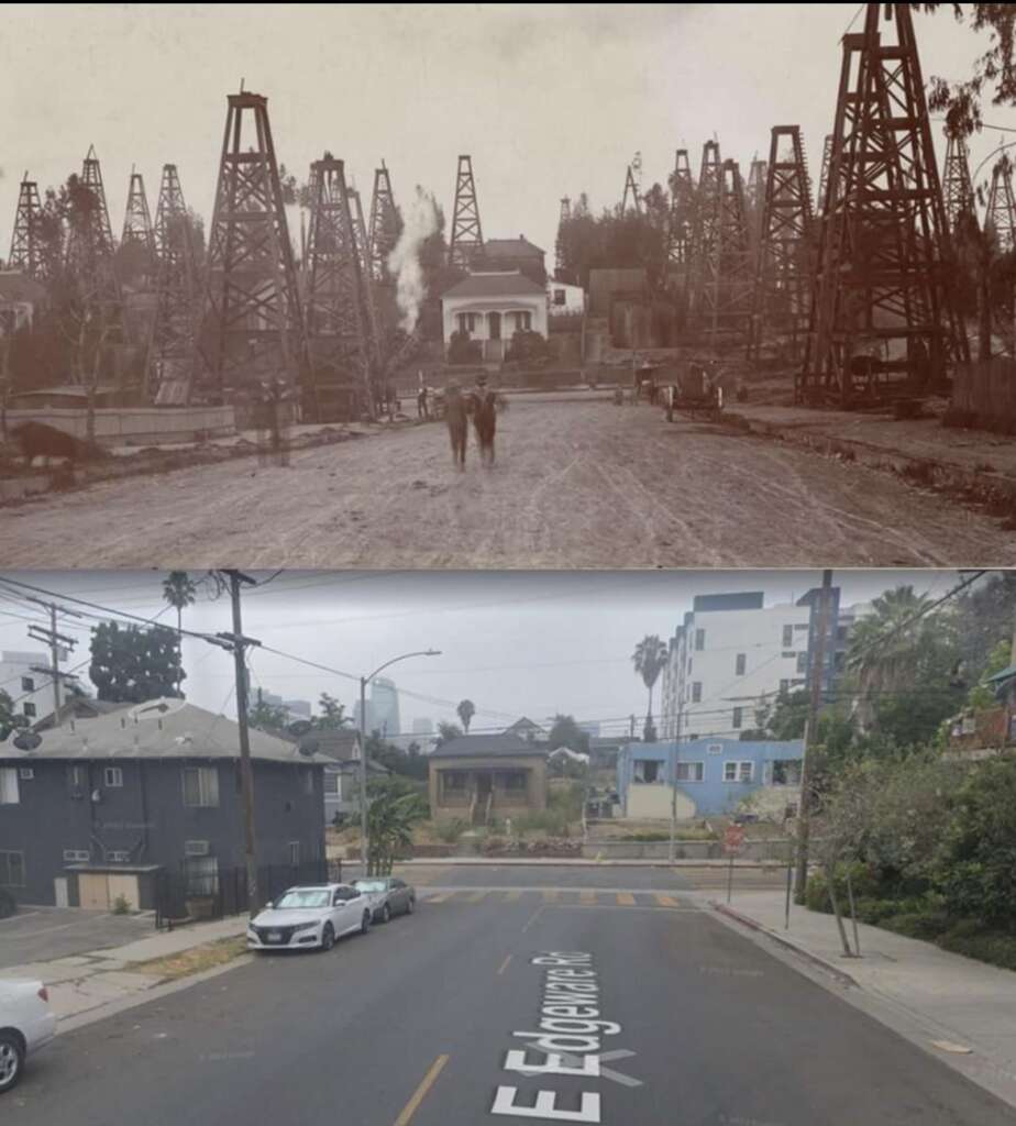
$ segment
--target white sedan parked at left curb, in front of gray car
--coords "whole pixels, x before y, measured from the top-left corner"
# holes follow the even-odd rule
[[[291,887],[248,923],[247,946],[330,950],[344,935],[365,935],[373,918],[371,900],[350,884]]]

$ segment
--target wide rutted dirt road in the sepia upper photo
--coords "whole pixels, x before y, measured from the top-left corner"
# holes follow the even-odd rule
[[[649,406],[513,401],[498,462],[440,425],[0,511],[21,568],[1006,565],[1016,536],[895,479]]]

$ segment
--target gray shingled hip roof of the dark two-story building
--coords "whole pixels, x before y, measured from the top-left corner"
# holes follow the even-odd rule
[[[0,758],[38,759],[239,759],[240,727],[224,715],[178,699],[149,700],[133,707],[73,720],[38,733],[39,744],[23,751],[16,733],[0,743]],[[265,762],[333,761],[308,754],[296,743],[250,729],[250,756]]]

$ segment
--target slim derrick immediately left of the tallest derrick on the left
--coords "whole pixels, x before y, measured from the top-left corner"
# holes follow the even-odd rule
[[[155,319],[149,343],[148,390],[159,404],[180,404],[188,394],[197,284],[190,217],[176,164],[162,166],[152,241]]]

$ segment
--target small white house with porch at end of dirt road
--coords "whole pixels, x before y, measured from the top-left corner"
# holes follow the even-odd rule
[[[445,347],[464,332],[482,345],[485,360],[501,360],[516,332],[546,337],[546,304],[544,287],[518,270],[471,274],[442,296]]]

